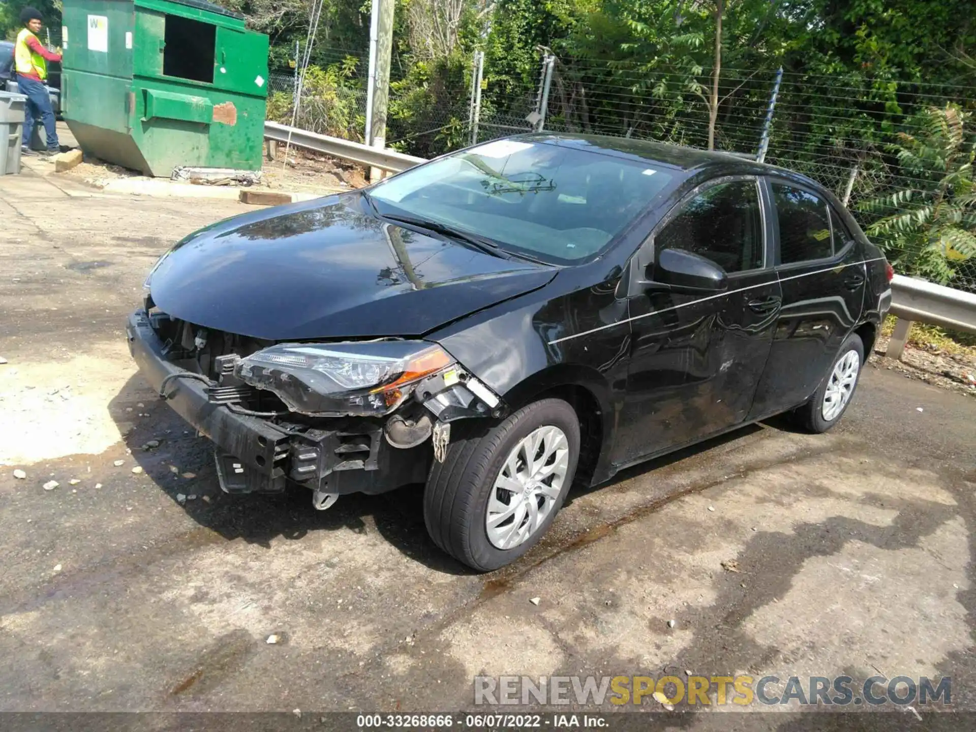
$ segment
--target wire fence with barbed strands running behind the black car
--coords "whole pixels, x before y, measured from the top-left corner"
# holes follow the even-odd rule
[[[297,125],[361,141],[367,60],[344,57],[342,51],[321,53],[333,61],[326,70],[306,75]],[[940,149],[951,144],[951,134],[924,137],[927,109],[951,103],[963,114],[976,111],[976,88],[723,68],[713,90],[708,68],[547,55],[540,58],[534,83],[504,94],[493,88],[491,69],[484,67],[487,81],[478,95],[472,61],[431,73],[423,83],[406,77],[393,81],[387,144],[432,157],[472,142],[544,130],[700,148],[711,142],[713,149],[754,158],[765,135],[765,162],[831,188],[865,229],[902,214],[927,218],[927,228],[901,222],[887,232],[875,230],[874,238],[902,271],[976,291],[976,251],[954,233],[958,211],[939,209],[958,192],[960,181],[971,184],[971,169],[968,174],[960,169],[967,154],[971,161],[976,136],[966,126],[955,150]],[[295,84],[293,71],[271,75],[269,115],[275,104],[278,118],[293,110]],[[914,142],[906,142],[905,135]],[[941,162],[928,169],[906,165],[906,144],[927,145],[924,154]],[[955,168],[940,173],[939,165]],[[940,203],[926,207],[933,200]],[[933,221],[933,211],[944,221]]]

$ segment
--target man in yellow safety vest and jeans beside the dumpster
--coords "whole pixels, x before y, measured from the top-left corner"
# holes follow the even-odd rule
[[[30,134],[34,130],[34,122],[40,119],[44,123],[47,134],[47,155],[61,152],[58,142],[58,130],[55,127],[55,112],[51,108],[51,97],[44,85],[48,78],[48,61],[61,61],[61,54],[53,54],[37,40],[37,33],[44,25],[41,14],[35,8],[24,8],[20,11],[20,22],[23,28],[17,34],[17,44],[14,46],[14,69],[17,71],[17,86],[20,94],[26,95],[27,102],[23,108],[23,142],[20,150],[24,155],[33,155],[29,148]]]

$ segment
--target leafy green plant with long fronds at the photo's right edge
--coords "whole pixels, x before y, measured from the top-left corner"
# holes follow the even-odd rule
[[[976,138],[971,115],[956,104],[929,107],[903,132],[893,152],[914,186],[874,198],[862,210],[881,218],[868,234],[901,271],[942,284],[960,261],[976,257]]]

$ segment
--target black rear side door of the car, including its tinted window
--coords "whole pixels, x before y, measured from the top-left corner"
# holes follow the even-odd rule
[[[861,248],[824,196],[793,181],[766,185],[783,306],[751,419],[802,404],[820,386],[861,317],[867,279]]]

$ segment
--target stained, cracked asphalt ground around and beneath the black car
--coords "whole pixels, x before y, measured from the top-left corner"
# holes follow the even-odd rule
[[[474,575],[427,539],[421,487],[223,495],[136,373],[149,266],[246,210],[0,178],[0,711],[455,711],[478,674],[685,671],[949,675],[976,710],[972,399],[869,367],[833,432],[776,419],[575,490]],[[853,726],[928,728],[891,714]]]

